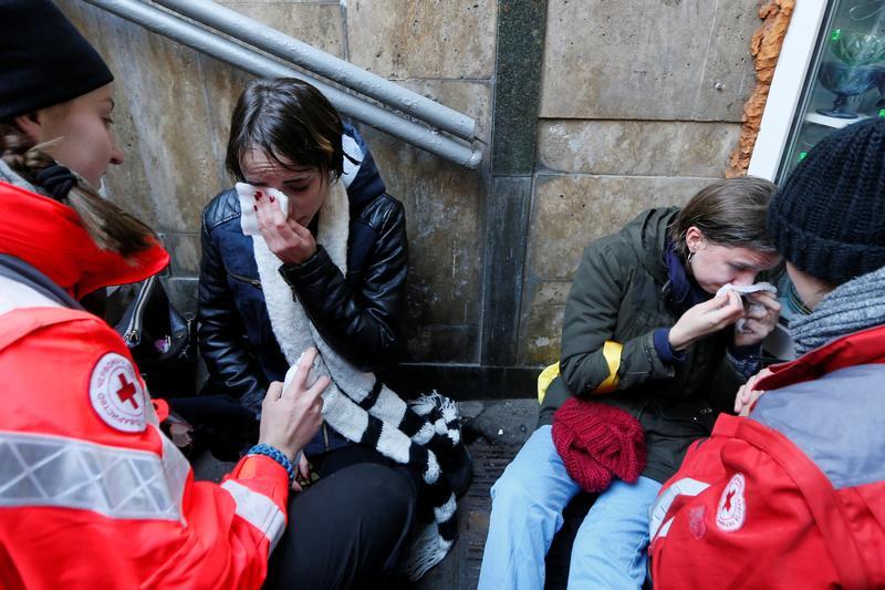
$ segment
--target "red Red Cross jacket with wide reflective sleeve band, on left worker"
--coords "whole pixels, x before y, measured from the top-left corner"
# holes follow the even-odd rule
[[[98,250],[69,207],[0,183],[0,253],[75,297],[168,263]],[[259,588],[285,526],[285,470],[246,457],[194,482],[106,323],[0,277],[0,586]]]

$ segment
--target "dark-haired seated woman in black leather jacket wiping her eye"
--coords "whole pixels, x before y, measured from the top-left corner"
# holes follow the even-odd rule
[[[235,110],[226,164],[246,183],[240,194],[252,190],[256,200],[243,216],[238,192],[229,189],[204,211],[198,319],[210,373],[204,393],[229,395],[257,415],[268,384],[291,364],[290,330],[274,308],[285,301],[271,297],[282,283],[257,262],[264,245],[272,275],[291,289],[282,300],[301,304],[334,353],[358,371],[394,364],[408,269],[405,213],[385,193],[356,130],[306,83],[254,81]],[[280,194],[287,213],[274,203]],[[346,203],[335,209],[335,198]],[[323,221],[337,214],[344,221],[324,237]],[[243,234],[243,217],[258,224],[254,239]],[[339,237],[341,260],[330,236]],[[320,478],[290,503],[294,526],[277,548],[271,581],[351,588],[391,576],[414,516],[415,475],[332,427],[304,456]]]

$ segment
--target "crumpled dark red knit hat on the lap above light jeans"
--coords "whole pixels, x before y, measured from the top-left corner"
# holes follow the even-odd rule
[[[615,475],[633,484],[645,468],[645,432],[618,407],[572,397],[553,415],[553,444],[569,475],[602,491]]]

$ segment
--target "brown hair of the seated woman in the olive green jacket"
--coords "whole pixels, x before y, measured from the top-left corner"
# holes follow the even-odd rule
[[[683,260],[688,258],[685,239],[694,226],[718,246],[777,253],[766,231],[768,204],[775,189],[773,183],[754,176],[723,178],[702,188],[669,226],[674,248]]]

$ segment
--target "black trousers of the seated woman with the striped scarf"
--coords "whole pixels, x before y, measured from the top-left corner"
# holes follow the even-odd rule
[[[266,589],[397,587],[417,505],[409,469],[350,446],[312,459],[320,479],[289,501]]]

